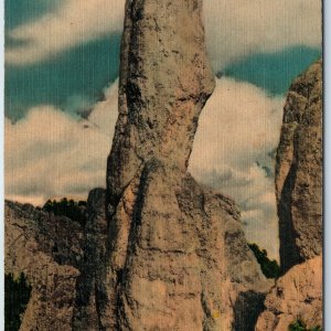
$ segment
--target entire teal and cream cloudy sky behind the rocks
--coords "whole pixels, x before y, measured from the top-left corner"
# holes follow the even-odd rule
[[[190,171],[233,196],[277,256],[274,156],[290,82],[321,54],[320,0],[206,0],[216,89]],[[124,0],[6,0],[6,196],[43,204],[105,186]]]

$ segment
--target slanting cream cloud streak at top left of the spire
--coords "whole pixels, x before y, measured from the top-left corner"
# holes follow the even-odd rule
[[[8,63],[31,64],[122,30],[124,0],[63,0],[41,19],[20,25],[9,36],[25,44],[7,49]]]

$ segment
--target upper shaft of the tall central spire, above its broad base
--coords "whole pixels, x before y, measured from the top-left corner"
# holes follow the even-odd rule
[[[186,170],[215,85],[201,15],[201,0],[126,3],[119,118],[107,168],[110,210],[150,159]]]

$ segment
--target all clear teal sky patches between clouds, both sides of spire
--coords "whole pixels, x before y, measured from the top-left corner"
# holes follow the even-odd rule
[[[7,32],[54,11],[54,3],[50,0],[6,0]],[[15,41],[9,36],[6,42],[8,49],[14,47]],[[41,104],[56,105],[72,115],[89,109],[102,97],[104,87],[118,76],[119,46],[120,33],[113,32],[42,62],[23,66],[7,64],[6,116],[17,120]],[[290,45],[276,52],[250,53],[221,72],[271,94],[284,94],[290,82],[320,54],[319,47]]]

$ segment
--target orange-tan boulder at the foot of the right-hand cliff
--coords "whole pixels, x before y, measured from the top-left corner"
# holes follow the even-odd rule
[[[265,301],[256,331],[288,330],[297,320],[308,330],[322,325],[322,257],[292,267],[279,278]]]

